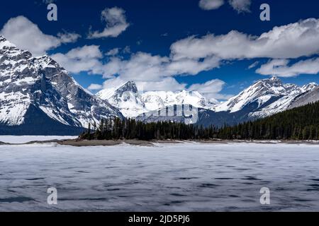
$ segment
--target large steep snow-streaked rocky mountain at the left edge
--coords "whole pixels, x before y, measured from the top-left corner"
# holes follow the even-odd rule
[[[115,116],[123,117],[108,102],[84,90],[50,57],[33,57],[0,36],[1,133],[8,126],[9,131],[26,134],[35,132],[35,126],[40,134],[67,134],[59,128],[75,133],[101,117]]]

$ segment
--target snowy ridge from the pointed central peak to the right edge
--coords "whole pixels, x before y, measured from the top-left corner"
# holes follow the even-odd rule
[[[134,87],[134,88],[132,88]],[[288,109],[294,98],[308,90],[318,87],[315,83],[309,83],[299,87],[295,84],[283,84],[279,78],[272,77],[259,80],[250,85],[235,97],[228,101],[212,104],[197,91],[180,92],[172,91],[148,91],[138,93],[134,82],[124,83],[118,88],[101,90],[97,96],[108,100],[112,105],[121,109],[125,117],[137,117],[145,112],[172,105],[193,105],[194,107],[211,109],[213,112],[235,113],[249,107],[249,117],[265,117]],[[123,90],[127,91],[123,95]],[[247,110],[245,110],[247,111]]]

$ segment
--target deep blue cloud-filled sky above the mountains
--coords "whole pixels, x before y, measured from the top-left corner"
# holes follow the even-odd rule
[[[95,84],[91,85],[93,93],[133,80],[144,90],[199,90],[225,100],[272,75],[284,83],[319,83],[315,66],[319,43],[314,39],[319,40],[319,2],[315,0],[201,0],[206,8],[200,0],[51,0],[57,5],[57,21],[47,20],[49,1],[1,3],[1,34],[35,55],[49,54],[84,88]],[[223,5],[209,8],[213,1]],[[270,6],[270,21],[259,19],[263,3]],[[103,20],[101,13],[106,15]],[[308,18],[315,20],[305,22]],[[266,42],[269,48],[255,43],[262,33],[276,26],[285,32],[288,29],[282,26],[292,23],[296,24],[290,32],[296,37],[288,40],[290,47],[283,44],[285,35],[273,40],[274,44]],[[300,31],[304,27],[307,30]],[[232,30],[237,32],[227,35]],[[38,32],[38,40],[33,42]],[[242,44],[230,37],[243,39]],[[216,44],[218,40],[223,40],[225,47]],[[303,40],[310,40],[310,47]],[[296,43],[301,44],[295,47]],[[35,44],[43,47],[35,48]],[[251,46],[253,53],[245,52]],[[202,54],[205,47],[211,49]]]

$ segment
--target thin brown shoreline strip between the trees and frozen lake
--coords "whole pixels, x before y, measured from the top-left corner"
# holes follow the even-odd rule
[[[319,145],[319,141],[293,141],[293,140],[79,140],[79,139],[65,139],[65,140],[47,140],[47,141],[30,141],[26,143],[5,143],[0,141],[1,145],[28,145],[28,144],[45,144],[57,143],[58,145],[70,145],[74,147],[89,147],[89,146],[114,146],[123,143],[137,146],[154,146],[155,144],[178,144],[178,143],[201,143],[201,144],[228,144],[228,143],[260,143],[260,144],[310,144]]]

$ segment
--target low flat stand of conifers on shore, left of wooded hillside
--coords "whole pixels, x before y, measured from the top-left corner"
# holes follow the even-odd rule
[[[217,129],[214,126],[203,128],[193,124],[184,124],[172,121],[159,121],[152,123],[144,123],[135,119],[102,119],[99,126],[89,125],[89,129],[82,133],[82,139],[200,139],[212,138],[216,134]]]

